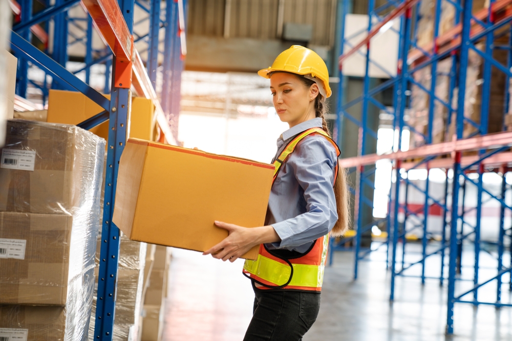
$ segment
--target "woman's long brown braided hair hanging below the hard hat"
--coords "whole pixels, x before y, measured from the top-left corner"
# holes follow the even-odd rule
[[[294,75],[294,74],[293,74]],[[297,76],[297,75],[295,75]],[[315,84],[315,81],[297,76],[304,85],[310,87]],[[325,119],[328,106],[325,103],[326,99],[320,93],[315,98],[315,116],[322,119],[322,129],[329,134],[329,137],[332,138],[331,133],[329,132],[329,127],[327,126],[327,120]],[[334,227],[331,231],[332,237],[340,237],[347,232],[350,225],[350,195],[347,184],[347,172],[345,169],[338,167],[338,176],[336,178],[336,182],[334,183],[334,197],[336,199],[336,212],[338,214],[338,220],[334,224]]]

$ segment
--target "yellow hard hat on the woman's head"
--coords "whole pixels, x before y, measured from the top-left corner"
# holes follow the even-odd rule
[[[258,71],[258,75],[270,78],[269,74],[274,71],[284,71],[296,75],[303,75],[318,84],[320,93],[324,97],[327,98],[331,96],[327,65],[313,50],[300,45],[293,45],[288,50],[281,52],[280,55],[275,58],[272,66]]]

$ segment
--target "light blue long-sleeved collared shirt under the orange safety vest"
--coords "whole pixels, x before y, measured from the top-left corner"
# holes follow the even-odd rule
[[[283,132],[274,160],[296,134],[313,127],[322,127],[322,119],[308,120]],[[266,223],[273,226],[281,242],[266,244],[269,249],[304,253],[314,240],[331,231],[338,220],[334,167],[336,150],[325,137],[310,135],[298,143],[270,191]]]

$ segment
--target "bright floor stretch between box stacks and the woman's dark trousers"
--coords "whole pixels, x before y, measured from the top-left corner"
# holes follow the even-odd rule
[[[254,299],[244,261],[176,248],[172,255],[162,341],[240,341]]]

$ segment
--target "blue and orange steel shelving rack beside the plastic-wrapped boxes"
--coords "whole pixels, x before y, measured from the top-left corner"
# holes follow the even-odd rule
[[[97,103],[103,111],[78,126],[90,129],[109,120],[109,141],[105,177],[105,196],[102,221],[102,243],[98,275],[98,300],[96,307],[95,339],[111,340],[115,319],[116,277],[119,255],[119,229],[112,223],[116,179],[119,159],[127,138],[132,88],[138,96],[153,101],[155,117],[160,129],[160,141],[176,144],[177,117],[179,113],[180,80],[183,70],[185,46],[186,0],[56,0],[38,13],[32,13],[32,0],[23,0],[17,4],[9,0],[11,8],[17,14],[18,21],[13,25],[11,47],[19,59],[16,94],[24,98],[29,84],[37,86],[42,92],[43,103],[48,97],[46,77],[44,84],[30,83],[29,62],[45,71],[53,79],[51,87],[79,91]],[[165,4],[165,18],[161,9]],[[82,6],[87,11],[87,18],[74,18],[68,15],[73,6]],[[134,6],[144,9],[150,18],[147,35],[134,34]],[[16,13],[17,9],[17,13]],[[49,21],[54,22],[53,53],[48,52]],[[78,25],[85,21],[86,25]],[[41,23],[45,23],[41,28]],[[68,26],[80,28],[82,36],[69,35]],[[93,28],[99,33],[107,48],[94,51],[92,48]],[[164,51],[159,50],[159,33],[165,30]],[[31,44],[31,34],[36,34],[45,46],[35,47]],[[46,39],[46,40],[45,40]],[[135,48],[137,41],[148,40],[146,67]],[[77,71],[66,70],[69,44],[83,43],[86,48],[85,66]],[[163,54],[161,69],[158,55]],[[94,58],[94,56],[96,56]],[[106,99],[88,83],[91,66],[106,64],[104,93],[111,93]],[[112,65],[112,82],[109,84],[110,65]],[[157,72],[163,73],[160,103],[156,93]],[[76,74],[86,72],[86,81]]]

